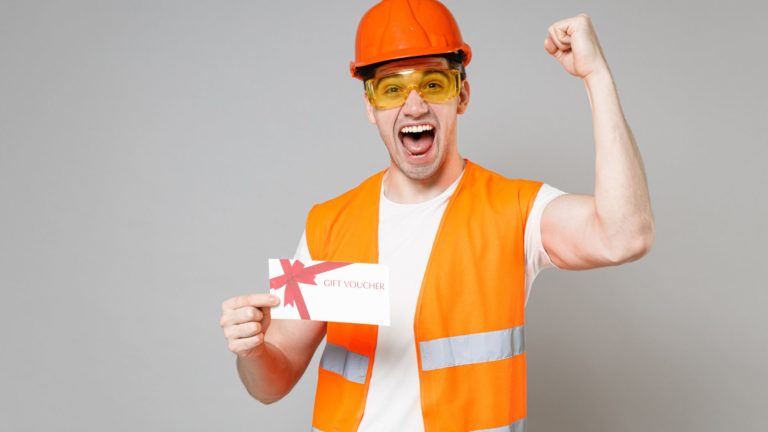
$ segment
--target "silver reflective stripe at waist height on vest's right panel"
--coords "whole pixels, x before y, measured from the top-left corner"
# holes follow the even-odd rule
[[[419,342],[421,370],[503,360],[525,351],[523,326]]]

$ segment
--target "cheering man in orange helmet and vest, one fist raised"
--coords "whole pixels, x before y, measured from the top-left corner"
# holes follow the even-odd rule
[[[253,397],[286,395],[327,334],[313,430],[525,429],[524,306],[536,273],[632,261],[654,239],[640,154],[589,17],[553,24],[544,48],[586,85],[594,196],[459,155],[471,49],[442,4],[383,0],[363,17],[351,69],[390,165],[315,206],[297,258],[388,264],[392,326],[271,321],[274,296],[226,300],[220,324]]]

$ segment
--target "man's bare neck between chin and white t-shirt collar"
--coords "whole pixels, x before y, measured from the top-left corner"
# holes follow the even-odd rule
[[[464,159],[456,154],[445,161],[434,175],[426,179],[412,179],[394,164],[390,165],[382,180],[384,196],[400,204],[415,204],[440,195],[456,181],[464,170]]]

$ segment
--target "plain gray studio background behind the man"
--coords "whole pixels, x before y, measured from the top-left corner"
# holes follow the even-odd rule
[[[535,284],[530,431],[765,430],[765,4],[446,3],[464,156],[591,193],[584,87],[542,47],[586,11],[651,187],[650,255]],[[0,430],[307,428],[317,356],[262,406],[220,305],[386,165],[347,75],[371,4],[0,2]]]

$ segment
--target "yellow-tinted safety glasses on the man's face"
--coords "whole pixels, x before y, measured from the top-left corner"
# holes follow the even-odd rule
[[[365,81],[368,100],[378,109],[402,106],[411,90],[427,102],[448,102],[459,95],[461,73],[456,69],[409,69]]]

